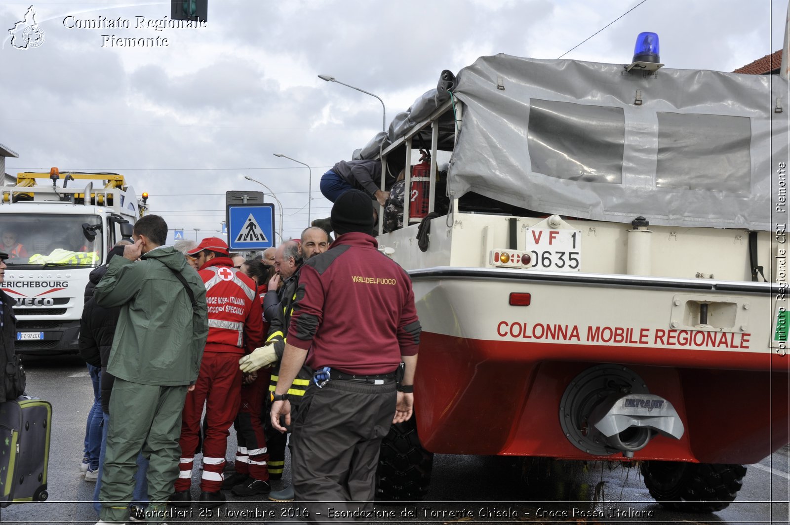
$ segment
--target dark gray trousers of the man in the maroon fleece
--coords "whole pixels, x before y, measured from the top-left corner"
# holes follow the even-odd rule
[[[303,518],[348,522],[354,518],[345,512],[373,508],[378,452],[395,416],[396,398],[394,380],[310,385],[291,436],[294,492],[309,512]]]

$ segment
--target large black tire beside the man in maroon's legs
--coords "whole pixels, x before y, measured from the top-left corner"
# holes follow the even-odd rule
[[[419,444],[413,416],[390,426],[378,456],[376,500],[422,500],[431,484],[433,466],[434,455]]]

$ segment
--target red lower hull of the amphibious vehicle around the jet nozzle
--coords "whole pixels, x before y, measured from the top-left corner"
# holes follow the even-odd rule
[[[656,436],[634,459],[756,463],[788,443],[788,362],[769,353],[482,341],[423,331],[419,437],[438,453],[591,459],[562,432],[559,402],[579,373],[613,363],[672,402],[686,428],[680,440]]]

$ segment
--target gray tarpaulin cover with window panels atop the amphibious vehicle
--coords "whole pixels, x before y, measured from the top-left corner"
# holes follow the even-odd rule
[[[464,109],[455,198],[475,191],[600,221],[772,229],[776,172],[788,162],[788,109],[774,112],[788,81],[777,75],[630,74],[496,55],[461,70],[453,93]],[[389,141],[408,115],[398,117]]]

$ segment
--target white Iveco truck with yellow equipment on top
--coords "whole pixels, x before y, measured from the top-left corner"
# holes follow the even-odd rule
[[[115,242],[131,236],[147,201],[117,173],[52,168],[0,186],[0,235],[9,241],[0,249],[10,255],[2,289],[16,301],[15,352],[78,351],[88,275]]]

